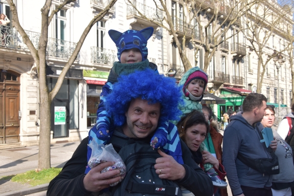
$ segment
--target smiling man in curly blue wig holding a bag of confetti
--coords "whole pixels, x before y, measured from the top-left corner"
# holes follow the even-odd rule
[[[105,98],[105,103],[113,117],[113,135],[108,144],[112,143],[125,163],[126,175],[123,181],[110,187],[109,184],[122,179],[121,176],[115,177],[120,171],[100,174],[103,168],[114,162],[100,163],[84,174],[88,143],[88,138],[85,138],[61,173],[50,182],[47,196],[97,196],[107,193],[114,196],[182,196],[181,187],[190,190],[195,196],[212,196],[212,181],[196,165],[183,141],[169,142],[179,138],[168,138],[167,145],[181,145],[184,164],[177,163],[160,149],[153,150],[149,144],[154,131],[162,122],[174,120],[179,115],[177,105],[180,102],[180,90],[174,82],[152,70],[121,76]],[[177,131],[176,127],[167,130],[171,131]],[[176,148],[171,146],[170,149]]]

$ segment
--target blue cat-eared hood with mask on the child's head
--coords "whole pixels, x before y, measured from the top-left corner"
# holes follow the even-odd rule
[[[148,56],[147,40],[153,34],[153,27],[147,27],[141,31],[127,30],[123,33],[116,30],[109,30],[108,34],[118,48],[118,59],[121,61],[123,50],[138,48],[142,54],[142,61],[145,61]]]

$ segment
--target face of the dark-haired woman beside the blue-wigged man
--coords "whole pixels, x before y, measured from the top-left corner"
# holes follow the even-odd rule
[[[206,136],[206,126],[204,124],[194,125],[186,130],[185,140],[188,148],[196,152]]]

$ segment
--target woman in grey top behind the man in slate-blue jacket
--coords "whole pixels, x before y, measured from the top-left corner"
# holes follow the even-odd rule
[[[267,106],[264,118],[261,123],[264,127],[271,128],[274,119],[275,111],[273,106]],[[291,187],[294,186],[294,165],[293,152],[289,144],[282,139],[282,137],[272,129],[273,136],[278,142],[275,154],[279,159],[280,174],[272,176],[271,191],[273,196],[291,196]]]

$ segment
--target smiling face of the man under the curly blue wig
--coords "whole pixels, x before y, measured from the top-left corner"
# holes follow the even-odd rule
[[[123,133],[130,138],[145,138],[156,130],[160,116],[160,104],[148,104],[141,98],[133,99],[125,112]]]

